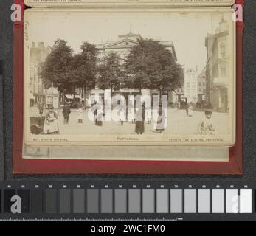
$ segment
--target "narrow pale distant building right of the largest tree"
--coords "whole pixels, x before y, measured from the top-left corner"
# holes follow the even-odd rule
[[[187,103],[196,103],[198,101],[198,72],[197,69],[187,69],[184,80],[184,96]]]

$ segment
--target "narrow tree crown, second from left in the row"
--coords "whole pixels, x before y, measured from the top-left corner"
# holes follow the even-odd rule
[[[95,86],[97,74],[97,48],[93,44],[83,42],[80,54],[72,60],[72,74],[75,87],[86,92]]]

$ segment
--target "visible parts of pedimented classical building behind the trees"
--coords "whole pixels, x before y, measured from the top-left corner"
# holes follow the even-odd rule
[[[104,55],[107,55],[109,52],[115,52],[118,55],[120,55],[121,59],[125,59],[126,55],[130,52],[130,49],[132,46],[138,44],[137,40],[139,38],[142,38],[139,34],[134,34],[132,32],[129,32],[125,35],[118,35],[118,38],[116,41],[106,41],[103,44],[98,44],[97,48],[100,51],[99,57],[103,57]],[[175,60],[177,60],[175,48],[172,41],[160,41],[166,49],[170,50],[170,52],[173,54],[173,57]],[[97,87],[95,89],[91,89],[87,92],[86,96],[86,106],[90,106],[94,100],[97,100],[98,97],[101,97],[103,99],[104,97],[104,90],[98,89]],[[176,103],[177,97],[182,95],[183,89],[179,89],[176,92],[170,91],[168,96],[169,103]],[[122,94],[125,98],[128,100],[128,95],[131,94],[139,94],[139,89],[120,89],[120,91],[117,91],[117,94]],[[159,94],[159,91],[151,91],[150,89],[142,89],[142,94],[150,94],[150,95],[156,95]],[[90,99],[88,99],[90,97]]]

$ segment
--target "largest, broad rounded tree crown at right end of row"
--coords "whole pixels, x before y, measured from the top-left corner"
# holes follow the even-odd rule
[[[125,60],[126,88],[174,91],[181,87],[184,74],[173,54],[159,41],[139,39]]]

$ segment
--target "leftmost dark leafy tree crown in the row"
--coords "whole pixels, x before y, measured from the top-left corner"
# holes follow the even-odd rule
[[[45,89],[54,86],[60,94],[72,92],[72,48],[66,45],[66,41],[57,39],[38,70],[38,76]]]

